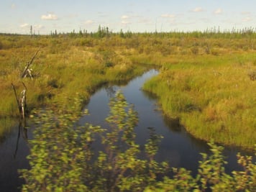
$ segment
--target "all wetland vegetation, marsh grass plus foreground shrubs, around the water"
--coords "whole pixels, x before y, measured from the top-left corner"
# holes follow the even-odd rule
[[[31,65],[32,78],[21,78],[27,62],[39,49]],[[110,104],[108,119],[118,129],[113,128],[111,134],[89,125],[71,129],[96,88],[108,82],[127,81],[157,68],[159,75],[147,81],[143,89],[155,93],[167,116],[179,119],[188,132],[201,140],[254,150],[253,29],[111,33],[99,28],[91,34],[0,35],[0,68],[1,119],[19,116],[12,83],[17,91],[22,91],[23,82],[27,87],[27,113],[42,128],[35,130],[35,139],[30,142],[32,169],[22,171],[27,182],[24,191],[255,189],[252,157],[238,155],[244,170],[228,175],[223,169],[222,148],[212,143],[213,155],[203,155],[196,178],[184,169],[173,170],[173,178],[161,177],[168,165],[154,160],[160,137],[150,134],[152,138],[145,145],[147,160],[140,160],[132,132],[136,113],[126,108],[129,105],[120,93]],[[42,107],[47,110],[39,114]],[[9,130],[1,126],[0,138]],[[120,140],[115,140],[121,133]],[[107,147],[89,167],[95,160],[89,148],[95,134],[101,134]],[[123,150],[116,147],[119,142],[123,142]],[[118,162],[114,161],[117,159]],[[91,175],[89,170],[97,174]],[[159,177],[163,180],[158,180]]]

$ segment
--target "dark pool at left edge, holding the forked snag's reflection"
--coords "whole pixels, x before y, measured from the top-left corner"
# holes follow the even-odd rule
[[[19,178],[17,170],[29,168],[27,155],[29,147],[28,139],[32,137],[32,129],[24,129],[17,126],[12,127],[0,140],[0,191],[20,191],[24,180]]]

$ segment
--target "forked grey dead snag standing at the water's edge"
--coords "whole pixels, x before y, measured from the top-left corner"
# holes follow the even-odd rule
[[[20,93],[20,97],[18,98],[17,96],[17,91],[16,88],[14,86],[14,84],[12,83],[12,88],[14,89],[14,95],[18,104],[18,108],[19,108],[19,118],[20,119],[25,119],[25,111],[27,108],[27,87],[25,86],[25,84],[22,82],[24,89],[22,90],[22,92]]]

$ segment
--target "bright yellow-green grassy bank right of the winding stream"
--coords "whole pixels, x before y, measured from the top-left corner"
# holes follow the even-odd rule
[[[200,55],[163,65],[144,89],[163,111],[202,140],[253,148],[256,143],[255,52]]]

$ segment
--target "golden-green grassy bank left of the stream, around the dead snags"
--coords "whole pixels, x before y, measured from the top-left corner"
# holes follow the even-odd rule
[[[111,50],[106,40],[90,38],[93,45],[83,45],[82,38],[0,36],[0,116],[17,116],[17,104],[11,83],[19,94],[27,86],[29,109],[45,104],[68,102],[76,93],[84,101],[102,83],[127,81],[147,67],[134,66],[122,50]],[[20,78],[35,52],[31,65],[34,78]],[[125,51],[125,50],[124,50]]]

